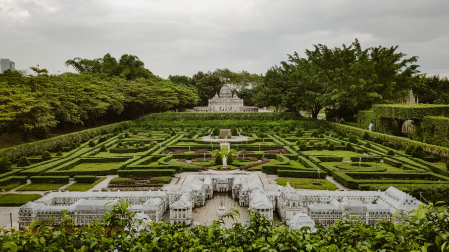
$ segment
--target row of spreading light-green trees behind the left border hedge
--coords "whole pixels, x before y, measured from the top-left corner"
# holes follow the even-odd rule
[[[198,102],[194,88],[154,75],[127,80],[106,73],[0,74],[0,134],[44,136],[66,124],[93,124],[101,116],[137,118]]]

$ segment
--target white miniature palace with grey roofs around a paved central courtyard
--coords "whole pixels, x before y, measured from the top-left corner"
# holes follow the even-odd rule
[[[169,212],[172,224],[189,226],[192,210],[202,207],[214,197],[214,192],[229,193],[239,206],[259,212],[272,220],[274,214],[290,228],[328,225],[345,216],[356,217],[368,224],[389,219],[395,212],[401,216],[423,203],[414,197],[389,187],[380,191],[320,191],[295,190],[288,183],[277,191],[265,190],[259,174],[189,174],[178,191],[136,192],[51,192],[23,205],[19,210],[20,226],[32,221],[61,217],[67,210],[75,225],[87,225],[111,211],[112,204],[126,200],[129,210],[148,222],[159,222]],[[221,209],[220,209],[221,208]],[[217,219],[229,207],[220,202]]]

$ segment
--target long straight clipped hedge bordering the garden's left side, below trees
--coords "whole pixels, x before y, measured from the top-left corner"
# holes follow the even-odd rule
[[[8,156],[12,160],[15,160],[23,156],[36,156],[44,151],[54,150],[58,145],[67,146],[71,143],[81,142],[85,139],[112,133],[119,127],[124,128],[125,126],[129,127],[130,125],[133,125],[132,121],[122,121],[33,143],[21,144],[0,150],[0,157]]]

